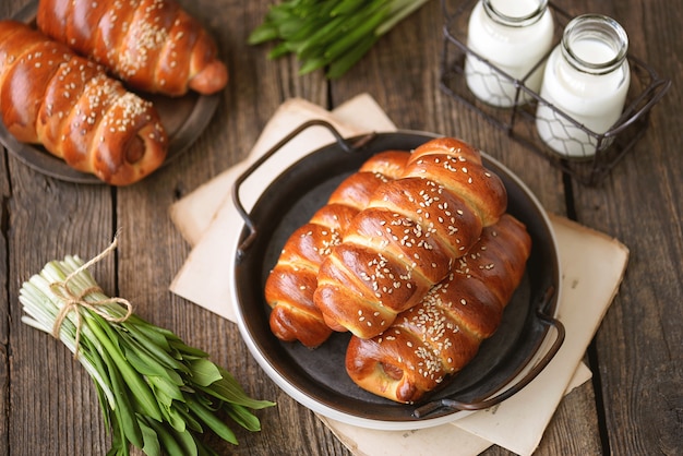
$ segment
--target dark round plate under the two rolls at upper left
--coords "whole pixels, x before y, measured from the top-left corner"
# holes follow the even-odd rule
[[[34,0],[16,13],[13,19],[24,23],[34,23],[38,1]],[[159,113],[161,124],[168,134],[168,154],[161,168],[192,145],[202,134],[218,106],[219,95],[199,95],[188,93],[182,97],[170,98],[160,95],[139,94],[152,101]],[[8,132],[0,121],[0,143],[24,165],[56,179],[75,183],[104,184],[94,175],[77,171],[64,160],[36,144],[20,143]]]

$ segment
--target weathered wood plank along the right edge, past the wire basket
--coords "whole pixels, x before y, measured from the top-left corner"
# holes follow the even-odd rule
[[[663,1],[615,3],[631,49],[672,89],[651,112],[645,137],[604,185],[575,188],[578,220],[631,250],[626,277],[596,338],[609,446],[613,454],[676,454],[683,448],[683,147],[676,88],[683,43],[680,9]],[[674,58],[673,56],[679,56]]]

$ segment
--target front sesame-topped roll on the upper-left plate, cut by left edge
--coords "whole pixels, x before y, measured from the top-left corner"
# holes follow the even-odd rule
[[[112,185],[139,181],[166,158],[166,132],[151,103],[14,21],[0,21],[0,116],[17,141],[43,144]]]

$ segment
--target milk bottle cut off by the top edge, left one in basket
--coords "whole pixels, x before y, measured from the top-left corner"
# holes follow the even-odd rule
[[[467,86],[480,100],[496,107],[515,105],[514,80],[523,80],[550,51],[553,19],[548,0],[481,0],[469,17],[465,59]],[[494,68],[504,72],[501,74]],[[540,65],[524,81],[538,93],[543,75]],[[519,91],[517,104],[530,96]]]

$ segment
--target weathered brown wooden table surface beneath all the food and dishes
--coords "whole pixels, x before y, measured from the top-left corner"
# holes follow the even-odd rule
[[[0,453],[104,455],[110,437],[95,388],[71,353],[21,322],[22,281],[47,261],[92,257],[121,228],[116,262],[94,273],[148,321],[208,351],[253,396],[276,400],[259,412],[263,431],[238,430],[221,454],[348,455],[315,416],[283,393],[256,364],[236,326],[169,291],[190,245],[169,206],[244,158],[276,108],[301,97],[334,108],[363,92],[402,129],[457,135],[515,172],[547,211],[623,242],[624,281],[586,355],[594,377],[561,403],[539,455],[674,455],[683,452],[683,39],[680,0],[559,0],[571,14],[604,13],[627,31],[631,50],[672,87],[650,125],[599,185],[576,182],[440,89],[444,16],[432,0],[385,35],[347,75],[297,74],[292,58],[268,60],[249,33],[269,1],[181,0],[215,36],[230,82],[206,130],[170,166],[128,188],[46,177],[4,148],[0,160]],[[3,0],[0,17],[26,0]],[[453,3],[455,4],[455,2]],[[492,447],[488,455],[507,454]]]

